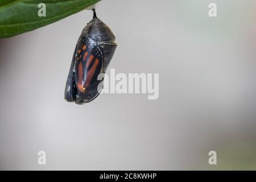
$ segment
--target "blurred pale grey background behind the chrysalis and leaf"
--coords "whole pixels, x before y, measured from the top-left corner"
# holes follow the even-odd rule
[[[256,1],[104,0],[97,15],[117,36],[109,69],[159,73],[159,99],[63,99],[91,11],[2,39],[0,169],[256,169]]]

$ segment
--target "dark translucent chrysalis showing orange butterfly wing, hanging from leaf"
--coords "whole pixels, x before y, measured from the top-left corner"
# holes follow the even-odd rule
[[[85,104],[100,94],[98,84],[103,80],[97,77],[106,72],[116,47],[114,33],[97,18],[93,9],[93,19],[82,30],[76,44],[65,86],[65,100]]]

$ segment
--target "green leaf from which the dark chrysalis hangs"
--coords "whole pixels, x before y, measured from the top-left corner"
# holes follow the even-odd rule
[[[35,30],[78,13],[100,0],[0,0],[0,38]],[[39,17],[39,3],[46,16]]]

